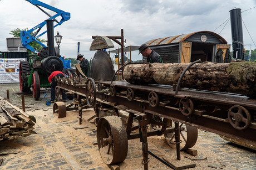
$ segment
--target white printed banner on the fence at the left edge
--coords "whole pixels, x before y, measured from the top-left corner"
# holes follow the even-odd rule
[[[0,58],[0,83],[19,83],[19,62],[23,59]]]

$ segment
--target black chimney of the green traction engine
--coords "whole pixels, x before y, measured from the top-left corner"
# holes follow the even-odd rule
[[[53,22],[54,20],[51,19],[46,20],[49,56],[55,56]]]

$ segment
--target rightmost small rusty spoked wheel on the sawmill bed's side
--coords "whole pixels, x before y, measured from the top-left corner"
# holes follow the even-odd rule
[[[232,106],[228,111],[228,120],[234,128],[243,130],[250,125],[250,112],[243,106]]]

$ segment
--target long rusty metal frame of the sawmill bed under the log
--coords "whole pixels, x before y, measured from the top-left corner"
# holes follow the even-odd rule
[[[230,107],[235,105],[243,106],[252,115],[256,117],[256,99],[249,99],[243,95],[227,94],[223,92],[212,92],[202,90],[180,89],[179,95],[175,94],[172,86],[167,85],[133,85],[126,81],[99,81],[101,89],[96,92],[96,122],[99,121],[99,111],[109,111],[112,115],[120,116],[120,110],[129,113],[126,133],[128,140],[140,138],[142,142],[142,164],[147,169],[148,154],[147,136],[163,135],[163,133],[175,133],[175,144],[177,146],[177,158],[180,159],[179,149],[179,123],[193,126],[216,133],[218,135],[232,138],[234,140],[247,143],[255,147],[256,123],[250,122],[250,125],[243,129],[235,129],[230,125],[228,112]],[[86,84],[67,84],[60,81],[60,89],[74,92],[77,95],[85,96]],[[135,98],[128,100],[126,90],[130,88],[134,91]],[[115,92],[111,92],[114,89]],[[160,99],[158,105],[150,106],[147,96],[154,91]],[[181,114],[180,106],[176,100],[189,98],[194,103],[195,109],[192,114]],[[172,102],[171,100],[175,100]],[[205,110],[210,107],[210,111]],[[218,109],[217,109],[218,107]],[[175,127],[168,127],[165,121],[157,122],[152,116],[163,117],[164,120],[172,120]],[[137,120],[138,126],[132,127],[132,122]],[[161,125],[161,130],[147,131],[149,124]],[[139,130],[139,133],[131,131]]]

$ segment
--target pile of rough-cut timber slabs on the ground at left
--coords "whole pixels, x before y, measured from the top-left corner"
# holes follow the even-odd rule
[[[0,141],[36,134],[33,131],[35,122],[35,117],[26,114],[0,97]]]

